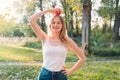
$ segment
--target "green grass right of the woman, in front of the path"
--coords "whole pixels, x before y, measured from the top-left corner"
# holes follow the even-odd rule
[[[119,80],[119,62],[86,62],[74,74],[69,76],[70,80]]]

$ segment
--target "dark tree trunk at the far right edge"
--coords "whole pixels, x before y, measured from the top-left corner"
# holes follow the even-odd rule
[[[115,8],[115,22],[114,22],[114,43],[119,40],[119,27],[120,27],[120,11],[118,10],[119,0],[116,0],[116,8]]]

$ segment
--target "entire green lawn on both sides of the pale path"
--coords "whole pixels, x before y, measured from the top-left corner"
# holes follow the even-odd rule
[[[108,61],[118,57],[87,56],[86,63],[76,72],[68,75],[69,80],[120,80],[120,62]],[[76,61],[69,52],[67,62]],[[101,60],[101,61],[99,61]],[[42,62],[40,50],[0,44],[0,62]],[[73,63],[66,64],[70,68]],[[37,80],[41,65],[0,65],[0,80]]]

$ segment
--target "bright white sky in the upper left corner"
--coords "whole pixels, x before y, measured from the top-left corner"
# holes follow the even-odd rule
[[[10,14],[6,16],[6,20],[10,21],[12,17],[16,18],[16,23],[19,23],[22,20],[22,14],[16,13],[16,10],[13,6],[14,1],[16,0],[0,0],[0,14]],[[18,0],[21,2],[21,0]]]

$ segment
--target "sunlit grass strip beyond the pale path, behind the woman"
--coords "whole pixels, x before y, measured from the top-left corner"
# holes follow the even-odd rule
[[[0,61],[1,62],[42,62],[42,50],[26,47],[18,47],[13,45],[0,44]],[[67,62],[75,62],[78,58],[71,51],[68,52]],[[120,56],[114,57],[98,57],[87,56],[88,61],[105,61],[105,60],[120,60]]]

